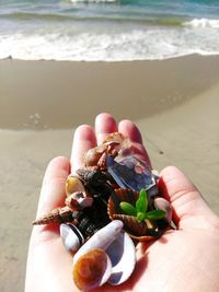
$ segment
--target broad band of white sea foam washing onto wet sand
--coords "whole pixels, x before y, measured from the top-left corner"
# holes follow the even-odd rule
[[[207,30],[207,32],[206,32]],[[60,33],[61,32],[61,33]],[[211,27],[97,28],[78,32],[0,35],[0,59],[123,61],[201,54],[218,55],[218,30]]]

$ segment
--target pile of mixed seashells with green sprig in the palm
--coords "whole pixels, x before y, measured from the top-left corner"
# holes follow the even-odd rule
[[[171,206],[159,196],[157,179],[129,139],[111,133],[67,178],[66,206],[33,222],[60,223],[80,290],[125,282],[135,269],[136,244],[155,240],[170,227]]]

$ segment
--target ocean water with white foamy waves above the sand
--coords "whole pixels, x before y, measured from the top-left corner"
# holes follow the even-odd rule
[[[218,0],[0,0],[0,59],[219,55]]]

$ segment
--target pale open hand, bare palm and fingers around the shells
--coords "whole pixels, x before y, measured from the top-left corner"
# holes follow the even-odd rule
[[[113,116],[101,114],[94,128],[88,125],[78,127],[70,160],[60,156],[49,163],[37,217],[64,206],[67,176],[82,166],[85,151],[115,131],[129,137],[138,154],[149,161],[139,129],[132,121],[117,124]],[[172,205],[177,229],[168,231],[150,244],[137,245],[138,261],[125,283],[116,288],[105,284],[93,291],[219,291],[219,218],[193,183],[174,166],[162,170],[159,189]],[[33,227],[25,291],[79,291],[72,281],[72,257],[61,244],[58,225]]]

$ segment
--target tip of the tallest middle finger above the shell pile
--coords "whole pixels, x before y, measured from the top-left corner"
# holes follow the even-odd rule
[[[110,114],[103,113],[95,118],[95,133],[97,144],[101,144],[111,132],[116,132],[117,124],[114,117]]]

